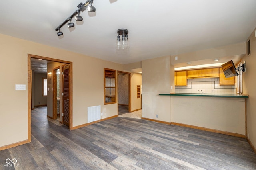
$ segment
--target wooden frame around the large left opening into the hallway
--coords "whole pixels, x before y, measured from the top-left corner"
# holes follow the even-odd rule
[[[73,62],[28,54],[28,142],[31,142],[31,94],[32,94],[31,58],[70,64],[70,123],[69,123],[70,126],[69,126],[69,129],[70,130],[73,129],[73,66],[72,66]]]

